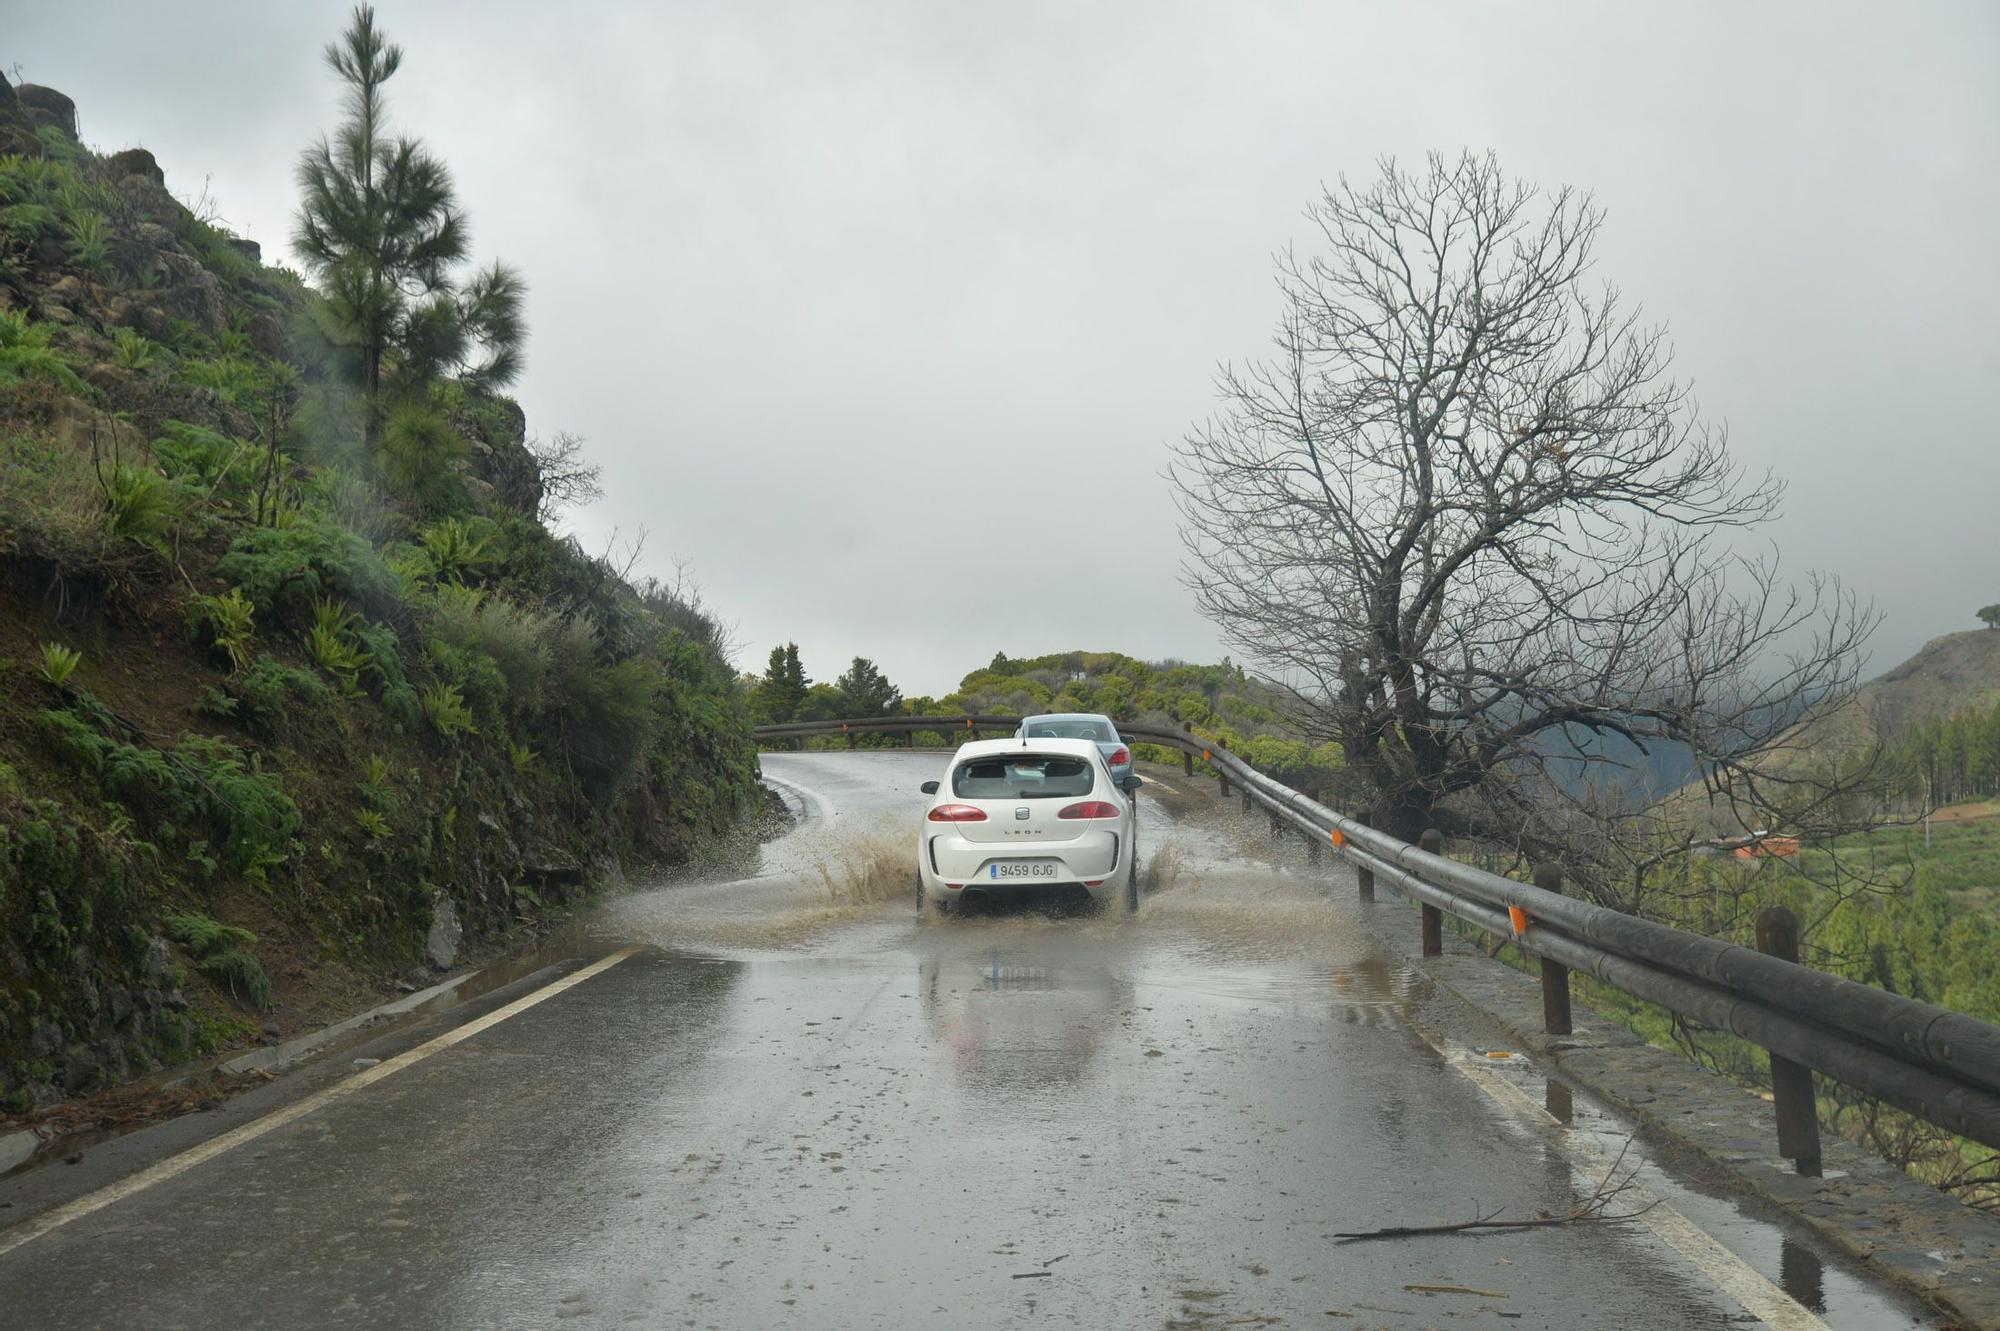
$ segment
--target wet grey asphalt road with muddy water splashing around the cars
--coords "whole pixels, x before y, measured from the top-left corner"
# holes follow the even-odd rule
[[[918,923],[940,765],[768,757],[808,817],[748,875],[610,903],[624,961],[0,1255],[0,1325],[1750,1321],[1638,1225],[1336,1243],[1578,1181],[1226,817],[1148,797],[1138,919]]]

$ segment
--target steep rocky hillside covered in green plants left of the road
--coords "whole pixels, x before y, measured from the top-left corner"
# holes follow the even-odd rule
[[[322,306],[0,80],[0,1113],[374,1001],[756,797],[700,606],[544,526],[510,400],[404,358],[364,430]]]

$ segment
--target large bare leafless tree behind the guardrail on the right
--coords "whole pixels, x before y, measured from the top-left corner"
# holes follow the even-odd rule
[[[1346,749],[1378,825],[1574,855],[1616,831],[1576,791],[1660,743],[1746,825],[1798,803],[1770,755],[1854,685],[1876,616],[1742,554],[1782,486],[1592,278],[1592,200],[1462,154],[1308,218],[1276,354],[1222,368],[1172,478],[1198,604]]]

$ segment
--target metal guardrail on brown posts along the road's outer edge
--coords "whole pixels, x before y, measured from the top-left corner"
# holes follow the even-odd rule
[[[926,715],[794,721],[756,727],[758,739],[920,731],[976,737],[1012,733],[1014,715]],[[1206,763],[1228,795],[1262,807],[1274,831],[1306,837],[1312,853],[1346,857],[1362,899],[1386,881],[1422,905],[1424,955],[1442,951],[1442,913],[1508,937],[1542,963],[1544,1025],[1570,1033],[1568,971],[1578,969],[1770,1053],[1778,1149],[1800,1173],[1820,1171],[1820,1133],[1810,1071],[1876,1095],[1928,1123],[2000,1147],[2000,1027],[1958,1011],[1840,979],[1798,963],[1798,921],[1770,907],[1758,919],[1758,949],[1688,933],[1566,897],[1556,865],[1518,883],[1454,859],[1426,831],[1410,845],[1264,775],[1226,747],[1186,727],[1118,723],[1132,743],[1176,749],[1182,769]],[[1810,1071],[1808,1071],[1810,1069]]]

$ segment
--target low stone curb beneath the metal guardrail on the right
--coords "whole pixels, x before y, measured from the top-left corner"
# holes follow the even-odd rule
[[[1776,1155],[1766,1099],[1582,1005],[1574,1009],[1574,1035],[1546,1035],[1538,979],[1452,931],[1442,957],[1420,955],[1412,903],[1386,883],[1378,891],[1378,903],[1344,901],[1342,909],[1392,955],[1498,1021],[1530,1055],[1750,1195],[1796,1215],[1884,1281],[1968,1327],[2000,1327],[2000,1219],[1832,1135],[1824,1139],[1826,1177],[1792,1173],[1790,1161]]]

